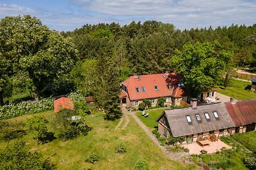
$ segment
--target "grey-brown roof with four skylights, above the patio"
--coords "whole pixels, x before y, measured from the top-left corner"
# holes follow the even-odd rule
[[[219,118],[214,117],[214,111],[217,112]],[[207,121],[204,113],[208,113],[210,121]],[[196,120],[195,115],[197,114],[200,115],[201,121],[199,122]],[[166,110],[157,119],[157,121],[159,121],[163,115],[165,115],[168,120],[173,137],[187,136],[190,134],[234,127],[234,123],[232,122],[230,115],[228,115],[228,111],[225,108],[224,103],[197,106],[196,109],[192,109],[190,107]],[[188,122],[186,116],[190,117],[191,123]]]

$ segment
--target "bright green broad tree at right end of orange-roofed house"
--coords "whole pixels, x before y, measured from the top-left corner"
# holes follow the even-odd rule
[[[183,75],[186,89],[193,96],[212,89],[223,78],[223,73],[232,64],[233,52],[222,49],[218,41],[214,43],[188,43],[182,50],[176,50],[172,57],[172,68]]]

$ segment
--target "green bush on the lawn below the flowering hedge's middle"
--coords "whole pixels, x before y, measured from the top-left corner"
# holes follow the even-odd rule
[[[47,143],[54,139],[54,133],[48,132],[46,124],[48,120],[43,116],[33,117],[28,120],[26,126],[30,131],[35,132],[38,142]]]

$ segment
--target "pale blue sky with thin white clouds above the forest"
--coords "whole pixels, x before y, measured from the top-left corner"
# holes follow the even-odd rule
[[[256,24],[256,0],[0,0],[0,19],[25,14],[57,31],[133,20],[157,20],[184,30]]]

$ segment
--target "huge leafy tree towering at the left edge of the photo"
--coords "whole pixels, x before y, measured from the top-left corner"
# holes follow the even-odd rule
[[[50,31],[38,18],[5,17],[0,20],[0,104],[12,93],[10,78],[15,74],[27,76],[38,93],[54,78],[70,72],[76,51],[70,39]]]

